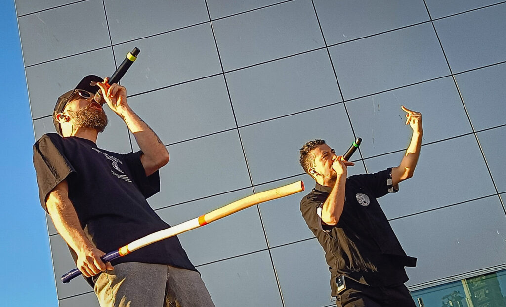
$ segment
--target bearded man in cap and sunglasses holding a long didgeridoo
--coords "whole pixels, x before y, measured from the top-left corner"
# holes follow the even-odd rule
[[[105,102],[128,126],[141,151],[117,154],[96,145],[107,125]],[[160,189],[158,169],[169,155],[126,102],[126,90],[89,75],[58,98],[53,122],[33,146],[40,204],[51,215],[76,266],[105,306],[214,306],[177,237],[104,264],[115,250],[169,227],[146,198]],[[114,267],[112,266],[114,265]]]

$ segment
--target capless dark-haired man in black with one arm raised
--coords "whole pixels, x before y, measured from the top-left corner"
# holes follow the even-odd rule
[[[423,137],[421,114],[402,106],[413,130],[399,166],[347,178],[354,163],[336,156],[325,141],[301,148],[301,165],[316,187],[301,201],[309,228],[325,250],[331,274],[331,295],[340,307],[415,306],[408,289],[407,256],[376,198],[398,191],[411,178]]]

